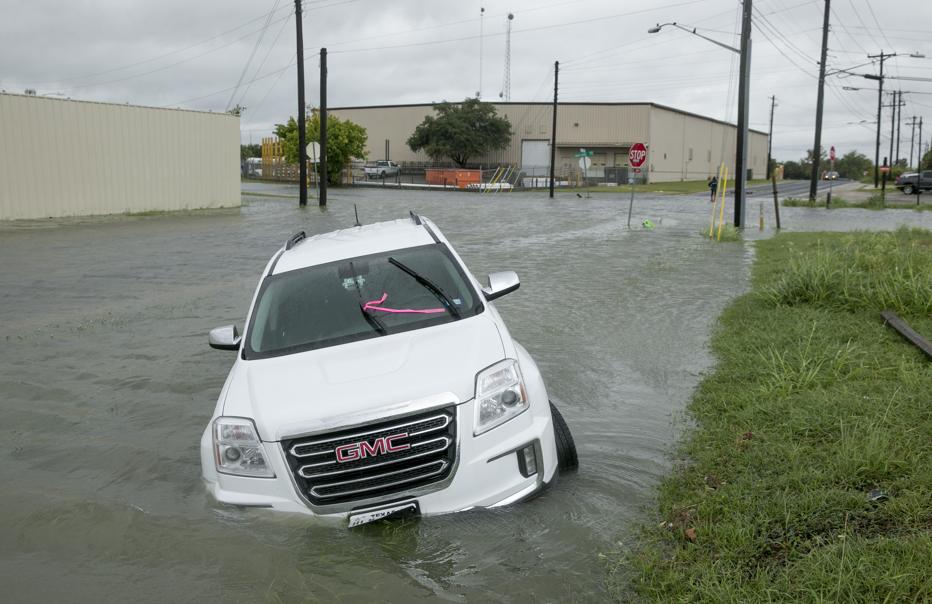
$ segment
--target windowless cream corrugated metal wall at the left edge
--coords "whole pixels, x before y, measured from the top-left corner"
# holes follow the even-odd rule
[[[0,94],[0,220],[240,205],[239,118]]]

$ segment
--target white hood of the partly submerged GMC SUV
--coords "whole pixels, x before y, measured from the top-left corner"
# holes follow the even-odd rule
[[[275,357],[238,360],[223,414],[255,420],[262,440],[357,425],[471,399],[476,373],[504,358],[491,313]]]

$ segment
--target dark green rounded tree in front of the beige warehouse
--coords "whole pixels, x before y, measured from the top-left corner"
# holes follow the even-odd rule
[[[434,105],[436,117],[428,115],[408,138],[408,147],[440,161],[452,159],[464,167],[471,157],[504,149],[511,142],[511,123],[499,117],[495,107],[477,98],[462,103],[446,101]]]

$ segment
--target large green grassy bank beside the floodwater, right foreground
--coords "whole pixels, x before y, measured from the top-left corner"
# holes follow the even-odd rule
[[[609,557],[618,598],[932,599],[932,364],[884,308],[932,336],[929,231],[757,243],[659,517]]]

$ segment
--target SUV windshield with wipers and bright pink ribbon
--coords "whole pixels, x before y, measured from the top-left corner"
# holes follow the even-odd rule
[[[482,302],[442,244],[266,277],[245,358],[262,359],[449,323]]]

